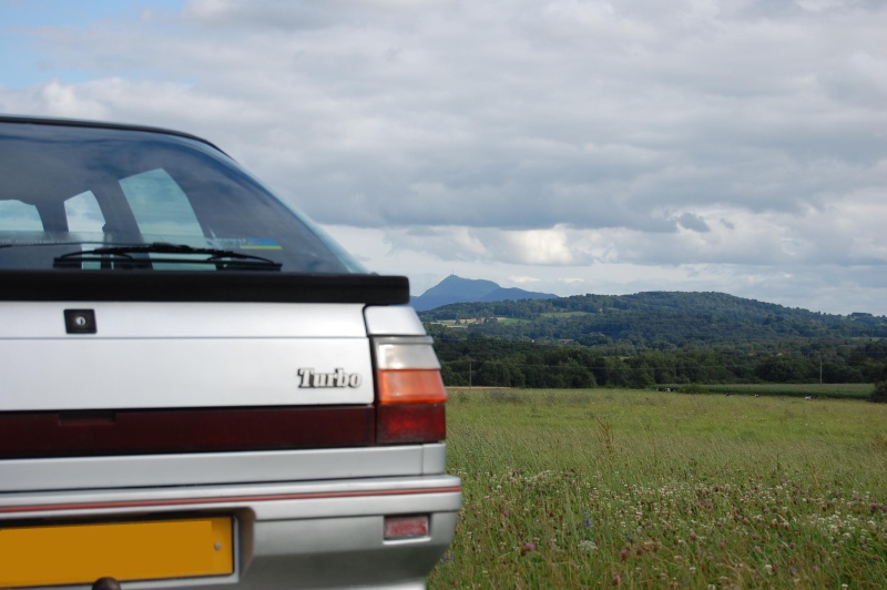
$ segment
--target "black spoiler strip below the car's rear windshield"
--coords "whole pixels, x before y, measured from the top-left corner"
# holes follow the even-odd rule
[[[406,276],[156,271],[0,271],[0,301],[409,303]]]

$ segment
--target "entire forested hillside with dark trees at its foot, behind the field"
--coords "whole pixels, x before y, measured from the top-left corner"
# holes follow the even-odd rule
[[[420,317],[436,338],[448,385],[887,378],[887,317],[820,314],[721,293],[453,304]]]

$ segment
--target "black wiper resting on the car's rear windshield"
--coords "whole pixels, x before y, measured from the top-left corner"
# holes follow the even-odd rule
[[[137,257],[133,254],[172,254],[172,257]],[[176,255],[206,256],[202,260],[180,258]],[[69,252],[53,258],[55,268],[80,268],[83,263],[100,263],[103,268],[151,268],[153,264],[206,264],[222,271],[279,271],[283,264],[269,258],[242,254],[231,250],[195,248],[184,244],[154,242],[130,246],[108,246]]]

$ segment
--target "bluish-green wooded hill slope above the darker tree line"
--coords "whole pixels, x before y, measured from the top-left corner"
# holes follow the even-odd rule
[[[650,348],[767,343],[786,338],[887,337],[887,317],[829,315],[744,299],[723,293],[653,292],[577,295],[554,299],[460,303],[420,314],[424,322],[520,318],[468,326],[508,339],[570,339],[585,346],[629,342]]]

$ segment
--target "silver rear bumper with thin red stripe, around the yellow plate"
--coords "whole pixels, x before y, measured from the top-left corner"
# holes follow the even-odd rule
[[[0,529],[232,516],[232,574],[132,581],[126,588],[420,588],[452,540],[460,506],[461,484],[447,475],[12,492],[0,495]],[[395,515],[427,515],[428,535],[386,540],[384,519]],[[45,558],[52,563],[52,556]]]

